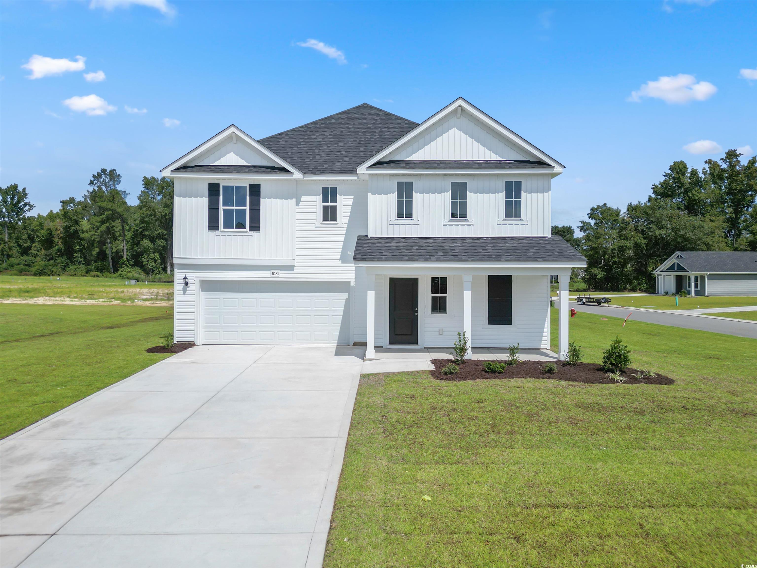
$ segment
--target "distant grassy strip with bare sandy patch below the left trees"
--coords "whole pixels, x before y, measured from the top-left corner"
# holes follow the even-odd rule
[[[60,278],[60,279],[58,279]],[[139,282],[126,285],[117,278],[88,276],[8,276],[0,274],[0,300],[66,298],[71,301],[109,300],[117,302],[173,302],[173,284]]]

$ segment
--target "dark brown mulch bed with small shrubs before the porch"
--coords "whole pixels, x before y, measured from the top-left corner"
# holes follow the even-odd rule
[[[505,368],[504,373],[487,373],[484,371],[483,360],[467,360],[459,365],[460,372],[456,375],[443,375],[441,370],[452,361],[450,359],[432,359],[434,370],[431,376],[440,381],[475,381],[486,379],[553,379],[556,381],[584,382],[589,385],[672,385],[675,381],[669,376],[656,373],[657,376],[637,379],[633,373],[637,369],[628,367],[622,376],[628,379],[626,382],[615,382],[608,379],[602,367],[593,363],[578,363],[575,367],[556,363],[557,372],[550,375],[542,370],[548,361],[521,361],[517,365]],[[502,363],[502,361],[497,361]]]

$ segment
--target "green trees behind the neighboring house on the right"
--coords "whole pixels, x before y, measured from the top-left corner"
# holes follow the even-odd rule
[[[742,155],[728,150],[702,170],[676,161],[646,201],[596,205],[581,236],[569,225],[552,234],[584,254],[581,279],[594,290],[653,291],[652,271],[675,251],[757,251],[757,157]]]

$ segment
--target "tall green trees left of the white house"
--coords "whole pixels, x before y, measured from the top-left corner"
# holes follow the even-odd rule
[[[137,204],[126,202],[121,176],[102,168],[77,199],[30,215],[26,188],[0,188],[0,270],[34,276],[107,276],[170,281],[173,181],[142,178]]]

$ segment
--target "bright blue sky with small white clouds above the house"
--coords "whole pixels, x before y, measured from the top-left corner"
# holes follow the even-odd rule
[[[263,138],[363,102],[420,122],[463,96],[567,166],[553,222],[575,226],[674,160],[757,151],[755,23],[709,0],[2,2],[0,184],[46,212],[114,167],[135,202],[229,123]]]

